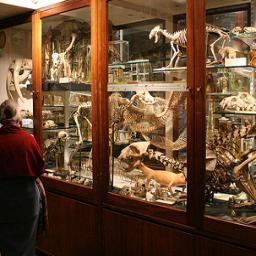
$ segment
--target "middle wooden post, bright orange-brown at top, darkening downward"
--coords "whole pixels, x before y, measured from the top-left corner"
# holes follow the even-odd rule
[[[99,198],[108,189],[107,1],[91,0],[93,168]]]

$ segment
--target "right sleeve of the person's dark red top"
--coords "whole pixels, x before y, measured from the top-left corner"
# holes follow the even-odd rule
[[[35,138],[28,136],[28,161],[34,176],[39,177],[44,173],[44,160]]]

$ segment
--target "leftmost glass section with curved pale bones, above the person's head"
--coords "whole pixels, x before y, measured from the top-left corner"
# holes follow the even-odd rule
[[[22,127],[33,134],[31,23],[0,31],[0,102],[19,104]]]

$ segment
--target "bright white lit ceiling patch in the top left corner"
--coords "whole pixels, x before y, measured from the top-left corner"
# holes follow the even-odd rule
[[[0,3],[36,10],[64,1],[66,0],[0,0]]]

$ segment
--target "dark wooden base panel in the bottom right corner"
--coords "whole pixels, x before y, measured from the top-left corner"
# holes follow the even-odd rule
[[[224,242],[215,241],[203,237],[197,239],[197,256],[255,256],[255,250],[237,247]]]

